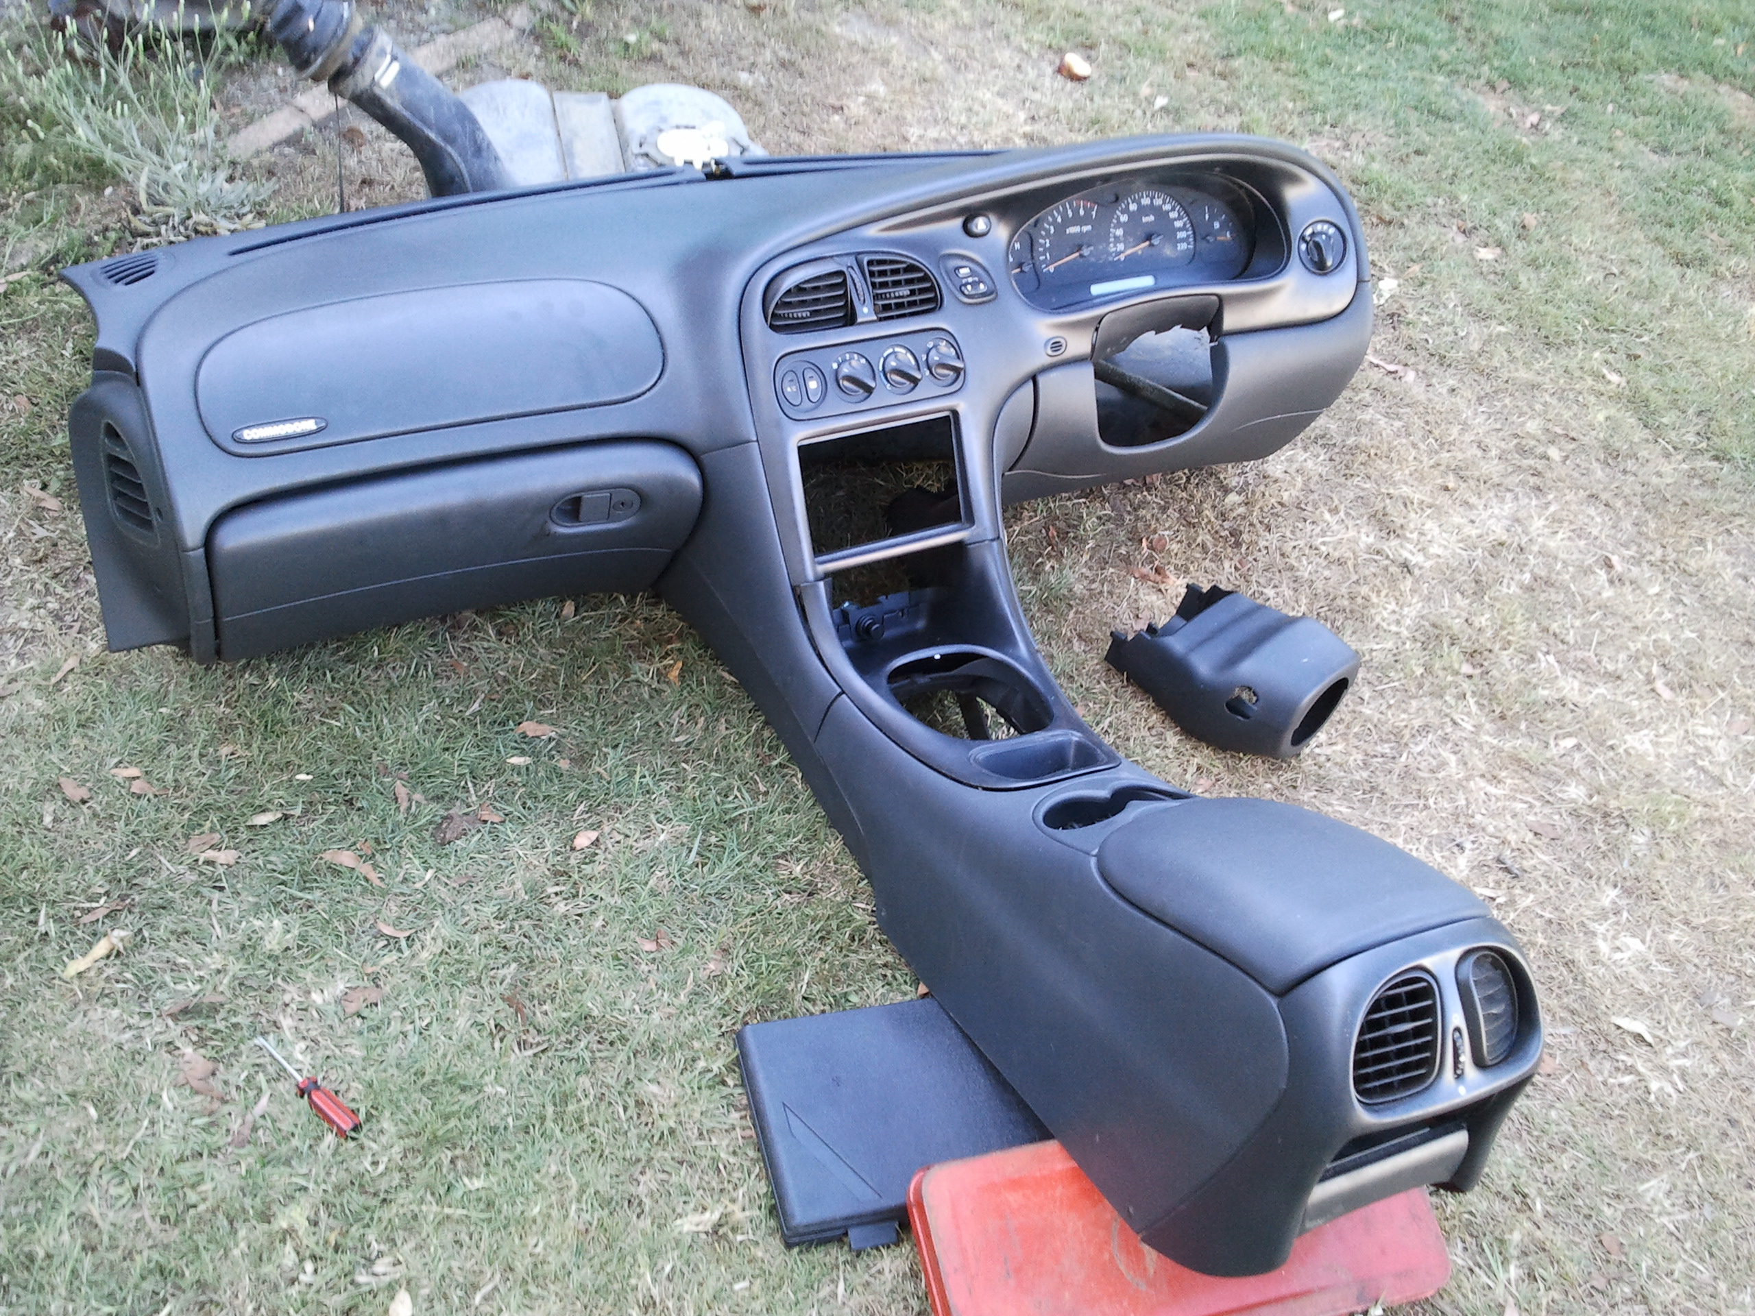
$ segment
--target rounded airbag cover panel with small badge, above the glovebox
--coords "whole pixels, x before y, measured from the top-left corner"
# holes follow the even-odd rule
[[[662,370],[651,316],[620,288],[507,279],[258,319],[212,346],[195,393],[216,442],[269,454],[625,402]],[[293,421],[307,425],[249,442]]]

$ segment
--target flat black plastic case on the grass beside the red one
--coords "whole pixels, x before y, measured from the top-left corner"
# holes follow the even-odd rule
[[[883,1239],[914,1170],[1049,1135],[930,997],[751,1023],[737,1060],[790,1246]]]

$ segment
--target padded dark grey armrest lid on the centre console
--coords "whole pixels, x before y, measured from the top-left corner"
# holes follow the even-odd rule
[[[1486,905],[1357,826],[1276,800],[1186,800],[1113,832],[1104,879],[1269,991]]]

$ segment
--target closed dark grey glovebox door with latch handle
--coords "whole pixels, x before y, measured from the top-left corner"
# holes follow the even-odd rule
[[[386,476],[242,507],[207,540],[221,658],[565,593],[646,590],[700,511],[649,440]]]

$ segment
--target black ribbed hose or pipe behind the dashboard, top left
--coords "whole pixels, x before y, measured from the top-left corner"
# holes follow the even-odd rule
[[[512,186],[474,112],[383,28],[360,28],[351,0],[279,0],[269,18],[293,67],[328,81],[421,161],[426,191],[456,197]]]

